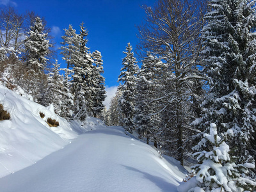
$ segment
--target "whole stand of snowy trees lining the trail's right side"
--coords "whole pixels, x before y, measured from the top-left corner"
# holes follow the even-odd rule
[[[158,0],[144,9],[141,68],[128,44],[106,122],[162,145],[182,165],[194,157],[190,191],[253,191],[255,1]]]

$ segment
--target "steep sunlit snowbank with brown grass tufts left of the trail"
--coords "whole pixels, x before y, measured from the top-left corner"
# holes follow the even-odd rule
[[[10,120],[0,121],[0,177],[17,172],[77,138],[67,120],[0,85],[0,104]],[[44,113],[44,118],[40,116]],[[47,119],[59,122],[49,127]]]

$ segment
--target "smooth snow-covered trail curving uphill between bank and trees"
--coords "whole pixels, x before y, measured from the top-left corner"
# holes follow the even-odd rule
[[[0,191],[177,191],[179,166],[152,147],[108,127],[0,179]]]

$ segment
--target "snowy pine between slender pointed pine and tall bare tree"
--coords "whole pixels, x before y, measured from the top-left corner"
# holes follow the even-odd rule
[[[148,55],[143,60],[140,71],[138,72],[138,83],[136,85],[136,107],[134,109],[134,124],[136,132],[140,137],[154,141],[157,147],[160,131],[159,110],[159,90],[161,90],[159,81],[161,79],[161,70],[163,63],[154,56]]]

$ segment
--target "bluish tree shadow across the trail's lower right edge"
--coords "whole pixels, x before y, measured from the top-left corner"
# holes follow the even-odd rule
[[[158,188],[161,189],[161,191],[172,191],[172,192],[175,192],[177,191],[177,186],[175,184],[172,184],[168,181],[166,181],[165,179],[161,178],[161,177],[157,177],[157,176],[154,176],[154,175],[150,175],[149,173],[146,173],[146,172],[141,172],[140,170],[136,169],[136,168],[133,168],[131,166],[126,166],[124,164],[121,164],[121,166],[124,166],[127,170],[131,170],[133,172],[138,172],[138,173],[141,173],[143,174],[143,176],[150,180],[151,182],[153,182],[154,184],[156,184],[156,186]],[[177,181],[179,182],[179,181]]]

